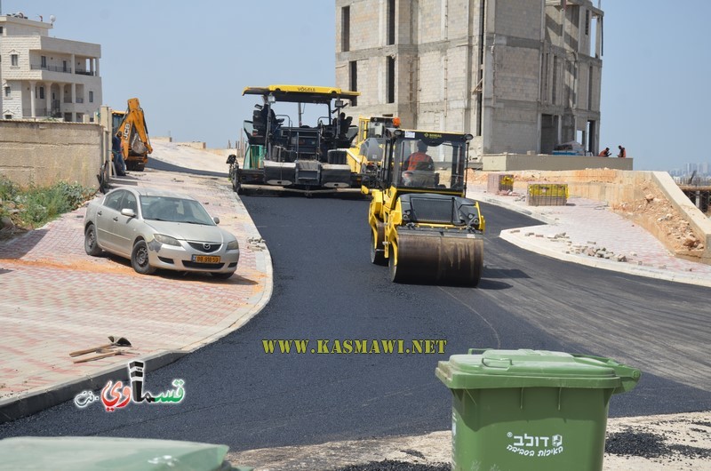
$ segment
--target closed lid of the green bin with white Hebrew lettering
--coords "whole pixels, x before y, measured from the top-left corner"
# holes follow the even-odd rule
[[[495,387],[591,387],[622,393],[635,387],[641,372],[609,358],[547,350],[471,349],[451,355],[435,371],[450,389]]]

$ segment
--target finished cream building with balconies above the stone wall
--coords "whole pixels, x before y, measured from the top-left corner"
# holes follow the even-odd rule
[[[1,119],[93,120],[101,105],[99,44],[48,36],[52,21],[0,16]]]

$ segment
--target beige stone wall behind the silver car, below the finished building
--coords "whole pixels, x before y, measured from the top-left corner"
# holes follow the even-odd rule
[[[102,148],[99,124],[0,120],[0,173],[21,187],[98,188]]]

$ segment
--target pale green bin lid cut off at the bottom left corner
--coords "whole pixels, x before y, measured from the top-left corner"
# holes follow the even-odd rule
[[[227,445],[106,436],[20,436],[0,440],[7,469],[224,469]],[[228,468],[229,469],[229,468]]]

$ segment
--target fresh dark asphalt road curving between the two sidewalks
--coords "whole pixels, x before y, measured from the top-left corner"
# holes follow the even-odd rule
[[[469,347],[602,355],[640,368],[639,386],[612,397],[611,416],[711,410],[707,288],[520,250],[499,230],[537,222],[489,205],[479,288],[394,284],[368,259],[367,201],[243,200],[273,258],[274,294],[239,331],[148,373],[152,391],[184,379],[182,403],[106,412],[69,402],[0,426],[0,437],[150,437],[238,451],[445,430],[451,395],[435,366]],[[443,355],[266,354],[264,339],[308,339],[308,350],[318,339],[447,343]]]

